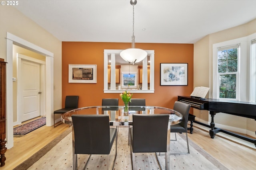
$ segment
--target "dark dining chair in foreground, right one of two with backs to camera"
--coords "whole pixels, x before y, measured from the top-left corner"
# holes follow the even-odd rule
[[[130,128],[132,169],[135,170],[134,153],[165,152],[167,156],[168,114],[133,114]],[[158,157],[156,156],[157,160]],[[159,162],[158,162],[159,163]],[[167,163],[167,162],[166,162]],[[167,166],[166,166],[167,167]],[[162,167],[160,167],[162,169]]]

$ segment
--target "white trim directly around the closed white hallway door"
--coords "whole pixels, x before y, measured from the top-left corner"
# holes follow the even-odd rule
[[[22,100],[22,90],[21,90],[21,61],[28,61],[31,63],[36,63],[36,64],[40,64],[40,91],[42,92],[40,94],[40,115],[46,115],[46,111],[45,111],[45,66],[46,63],[45,61],[42,60],[38,60],[26,55],[22,55],[17,53],[17,118],[18,120],[16,122],[13,123],[13,125],[20,125],[22,123],[22,115],[21,115],[21,100]]]

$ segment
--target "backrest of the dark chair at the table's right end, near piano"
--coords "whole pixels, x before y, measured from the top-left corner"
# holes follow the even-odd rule
[[[191,106],[190,104],[186,104],[186,103],[178,102],[178,101],[176,101],[174,103],[173,109],[182,114],[182,121],[179,123],[179,125],[184,127],[184,129],[187,129],[188,114],[189,114],[190,106]]]

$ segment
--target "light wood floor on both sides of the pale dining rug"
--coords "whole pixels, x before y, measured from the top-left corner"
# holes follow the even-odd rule
[[[6,151],[5,166],[0,167],[0,170],[12,170],[68,127],[64,123],[55,128],[44,125],[23,137],[15,137],[14,147]],[[188,133],[188,138],[230,170],[253,170],[256,167],[256,147],[253,143],[224,133],[217,133],[216,137],[211,139],[209,129],[196,123],[193,134]]]

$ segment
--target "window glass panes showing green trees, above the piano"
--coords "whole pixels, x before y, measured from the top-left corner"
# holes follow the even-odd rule
[[[219,98],[236,98],[239,45],[218,48]]]

